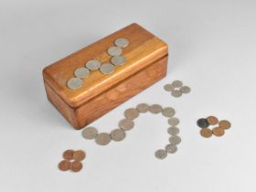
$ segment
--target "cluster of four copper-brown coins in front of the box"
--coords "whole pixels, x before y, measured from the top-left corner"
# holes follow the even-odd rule
[[[81,161],[86,157],[82,150],[66,150],[63,153],[64,160],[59,162],[59,170],[72,172],[79,172],[82,169]]]

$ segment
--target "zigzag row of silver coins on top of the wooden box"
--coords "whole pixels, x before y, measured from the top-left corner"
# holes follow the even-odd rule
[[[112,56],[110,62],[101,63],[98,59],[91,59],[85,63],[85,66],[74,71],[74,78],[68,80],[68,87],[71,90],[77,90],[82,86],[82,79],[87,78],[92,70],[100,70],[103,74],[110,74],[116,66],[123,65],[126,59],[122,56],[123,49],[129,45],[127,38],[116,38],[114,45],[107,49],[107,53]]]

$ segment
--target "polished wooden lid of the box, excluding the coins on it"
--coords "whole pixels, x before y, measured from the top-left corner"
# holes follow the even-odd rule
[[[75,69],[85,66],[86,61],[99,59],[102,63],[110,62],[111,56],[107,54],[107,48],[112,47],[118,37],[125,37],[130,41],[129,46],[123,48],[126,62],[116,67],[112,74],[102,74],[99,70],[91,71],[90,76],[83,80],[80,89],[70,90],[67,81],[74,77]],[[164,41],[143,27],[132,24],[53,63],[43,70],[43,76],[45,83],[48,83],[70,107],[76,108],[165,56],[167,45]]]

